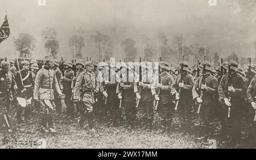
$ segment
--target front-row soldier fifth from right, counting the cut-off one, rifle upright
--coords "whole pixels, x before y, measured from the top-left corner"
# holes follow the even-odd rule
[[[172,117],[174,112],[174,104],[172,103],[172,95],[171,95],[171,85],[174,82],[173,77],[168,73],[169,64],[167,62],[160,62],[160,84],[158,80],[155,81],[151,92],[155,97],[156,101],[159,101],[159,106],[157,111],[161,118],[161,123],[163,126],[163,133],[171,131]],[[156,85],[157,84],[157,85]],[[156,88],[160,89],[160,94],[156,94]],[[159,90],[158,89],[158,90]],[[155,108],[156,110],[156,108]]]

